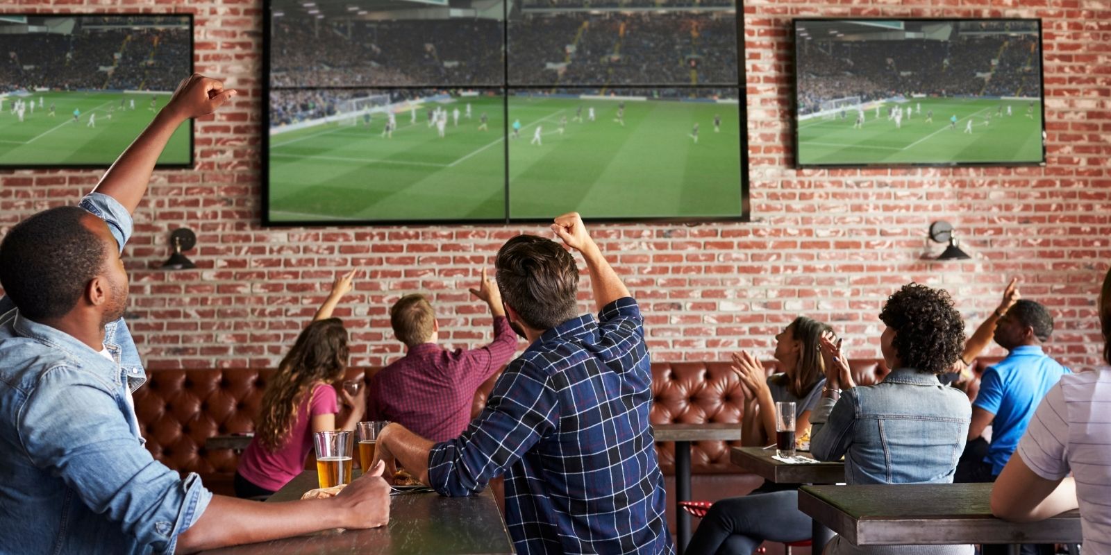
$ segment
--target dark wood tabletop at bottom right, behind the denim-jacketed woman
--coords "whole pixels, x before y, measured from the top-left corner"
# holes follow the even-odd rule
[[[820,485],[799,508],[855,545],[1080,543],[1080,513],[1035,523],[991,514],[993,484]]]

